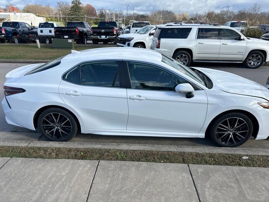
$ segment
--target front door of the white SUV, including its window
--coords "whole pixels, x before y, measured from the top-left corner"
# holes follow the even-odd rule
[[[232,29],[221,29],[218,60],[241,61],[247,48],[247,41]]]

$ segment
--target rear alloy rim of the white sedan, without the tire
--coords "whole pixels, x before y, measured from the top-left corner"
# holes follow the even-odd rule
[[[53,139],[64,139],[72,132],[70,120],[60,113],[47,114],[42,120],[42,128]]]

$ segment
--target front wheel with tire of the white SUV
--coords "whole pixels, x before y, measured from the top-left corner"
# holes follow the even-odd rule
[[[264,63],[264,55],[259,51],[252,51],[247,55],[244,65],[247,68],[257,69]]]

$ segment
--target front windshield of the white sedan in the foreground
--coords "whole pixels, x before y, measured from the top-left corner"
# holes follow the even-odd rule
[[[172,58],[169,58],[169,57],[162,54],[162,62],[169,65],[169,66],[171,66],[171,67],[173,67],[173,68],[175,68],[176,70],[179,70],[183,74],[186,74],[190,78],[192,78],[195,81],[199,82],[200,84],[206,86],[204,81],[193,70],[191,70],[187,66],[179,63],[178,61],[176,61],[176,60],[174,60]]]

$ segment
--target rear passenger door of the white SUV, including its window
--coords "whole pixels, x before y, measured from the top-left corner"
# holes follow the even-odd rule
[[[195,60],[217,60],[220,52],[220,29],[198,28]]]

